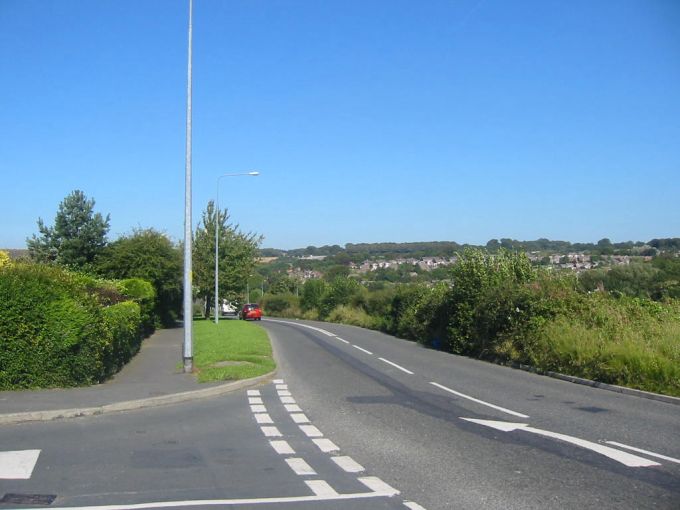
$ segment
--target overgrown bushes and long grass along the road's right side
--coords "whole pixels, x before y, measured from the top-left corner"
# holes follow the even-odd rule
[[[680,396],[680,258],[581,277],[523,253],[468,248],[447,281],[371,290],[308,280],[263,299],[270,314],[374,328],[425,346]]]

